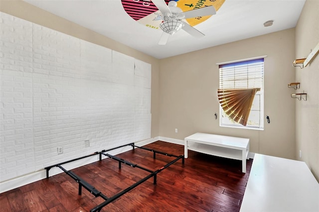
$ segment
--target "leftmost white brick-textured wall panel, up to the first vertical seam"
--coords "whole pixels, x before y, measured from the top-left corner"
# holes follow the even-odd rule
[[[0,181],[34,170],[32,24],[1,13]]]

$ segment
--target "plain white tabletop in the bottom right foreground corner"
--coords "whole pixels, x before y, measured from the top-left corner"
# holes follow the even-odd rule
[[[240,212],[319,212],[319,184],[305,162],[255,154]]]

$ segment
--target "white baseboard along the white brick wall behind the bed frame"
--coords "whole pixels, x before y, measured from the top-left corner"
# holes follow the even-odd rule
[[[153,143],[153,142],[158,141],[158,140],[159,140],[159,137],[155,137],[155,138],[150,138],[147,140],[136,142],[135,144],[138,146],[144,146],[144,145]],[[122,147],[122,148],[110,151],[110,153],[113,155],[117,155],[117,154],[129,151],[131,149],[132,149],[132,147],[126,146],[126,147]],[[104,158],[107,158],[107,157],[103,156],[102,159],[104,159]],[[75,169],[75,168],[78,168],[81,166],[85,166],[85,165],[90,164],[90,163],[94,163],[98,160],[99,160],[99,155],[94,155],[92,157],[87,157],[87,158],[84,158],[81,160],[77,160],[77,161],[74,161],[71,163],[64,164],[63,168],[65,168],[67,170],[71,170],[71,169]],[[60,168],[53,167],[49,171],[49,176],[60,174],[62,172],[63,171]],[[12,189],[16,189],[18,187],[42,180],[44,178],[46,178],[46,170],[43,169],[43,170],[39,170],[36,172],[32,172],[32,173],[29,173],[29,174],[26,174],[23,176],[19,176],[19,177],[13,178],[13,179],[9,179],[9,180],[0,182],[0,193],[7,192],[7,191],[10,191]]]

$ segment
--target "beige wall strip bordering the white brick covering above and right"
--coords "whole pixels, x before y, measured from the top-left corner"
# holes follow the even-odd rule
[[[149,55],[141,53],[124,44],[114,41],[101,34],[93,32],[78,24],[53,15],[43,9],[35,7],[21,0],[1,0],[0,11],[16,17],[31,21],[33,23],[46,26],[48,28],[72,35],[74,37],[113,49],[115,51],[132,56],[136,59],[152,64],[152,137],[159,135],[159,60]]]

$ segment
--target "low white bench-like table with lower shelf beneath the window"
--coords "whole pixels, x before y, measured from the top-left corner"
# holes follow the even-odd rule
[[[209,155],[242,161],[242,172],[246,173],[249,153],[249,138],[231,137],[197,132],[184,139],[184,157],[188,149]]]

